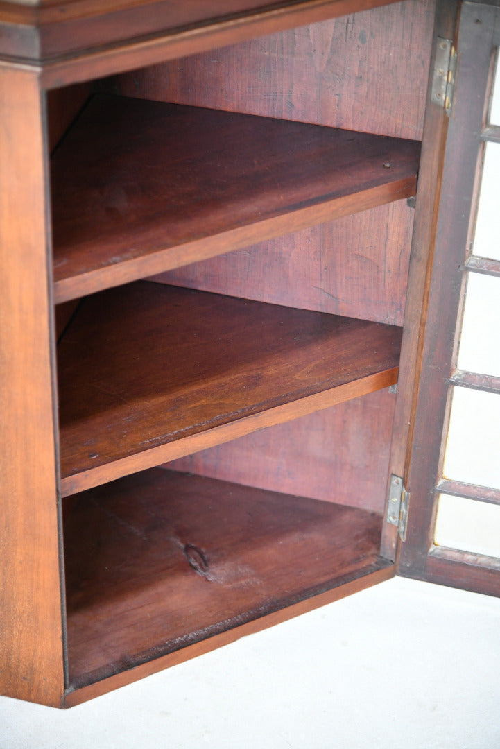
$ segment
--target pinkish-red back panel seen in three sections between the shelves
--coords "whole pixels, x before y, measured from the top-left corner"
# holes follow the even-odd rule
[[[421,139],[433,13],[433,0],[404,0],[116,76],[101,88]],[[402,325],[413,215],[399,201],[156,279]],[[376,392],[172,465],[381,510],[393,412],[394,395]]]

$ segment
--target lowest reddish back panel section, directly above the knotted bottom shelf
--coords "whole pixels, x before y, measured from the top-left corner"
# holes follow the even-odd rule
[[[394,401],[371,392],[168,467],[383,512]]]

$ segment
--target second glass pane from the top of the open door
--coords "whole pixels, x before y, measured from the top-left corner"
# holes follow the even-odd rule
[[[500,143],[487,143],[474,237],[474,254],[500,260]]]

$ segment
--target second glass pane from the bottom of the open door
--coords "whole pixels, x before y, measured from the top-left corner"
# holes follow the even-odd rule
[[[453,388],[443,475],[500,488],[500,395]]]

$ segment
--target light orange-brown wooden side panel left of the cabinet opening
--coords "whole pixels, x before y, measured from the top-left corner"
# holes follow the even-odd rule
[[[43,105],[0,69],[0,692],[64,690]]]

